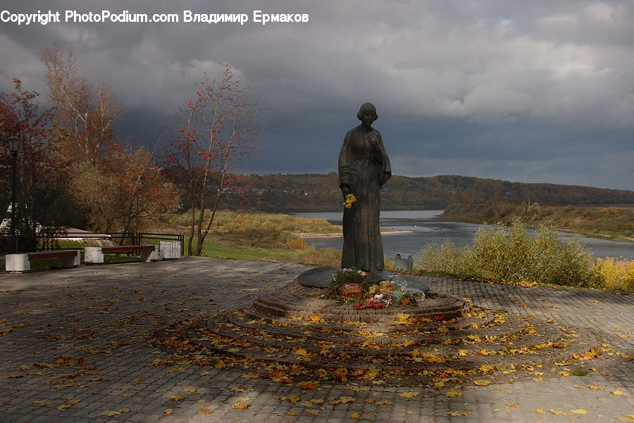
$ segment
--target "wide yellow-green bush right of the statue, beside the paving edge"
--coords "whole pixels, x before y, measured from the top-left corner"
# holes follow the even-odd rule
[[[541,226],[531,236],[521,220],[510,229],[481,227],[472,246],[456,248],[450,241],[425,246],[416,270],[483,277],[506,282],[537,282],[582,288],[602,288],[606,278],[579,239],[561,242],[552,227]]]

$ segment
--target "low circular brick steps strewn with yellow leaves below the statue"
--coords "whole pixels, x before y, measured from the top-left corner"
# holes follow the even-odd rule
[[[447,369],[461,377],[534,369],[573,362],[600,343],[590,329],[480,310],[442,292],[430,291],[416,306],[378,310],[356,310],[321,292],[296,279],[182,336],[197,351],[255,371],[266,368],[258,363],[277,363],[305,369],[304,377],[341,381],[346,374],[368,384],[377,377],[387,384],[429,382]]]

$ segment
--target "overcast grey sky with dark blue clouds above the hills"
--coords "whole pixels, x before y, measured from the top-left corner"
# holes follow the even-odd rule
[[[44,93],[40,53],[58,40],[83,76],[111,83],[118,134],[142,144],[156,143],[161,110],[229,63],[249,97],[275,109],[244,172],[336,170],[371,101],[396,175],[634,189],[632,0],[7,3],[10,13],[59,12],[61,23],[0,23],[0,89],[18,77]],[[180,22],[66,23],[67,10]],[[256,10],[309,21],[262,25]],[[249,21],[185,23],[183,11]]]

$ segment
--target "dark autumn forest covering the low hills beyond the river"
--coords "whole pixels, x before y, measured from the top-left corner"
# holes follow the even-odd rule
[[[236,175],[241,194],[228,192],[226,208],[271,213],[341,210],[336,172],[304,175]],[[247,195],[244,195],[244,193]],[[382,210],[443,210],[452,203],[527,203],[559,205],[634,204],[634,191],[561,184],[526,184],[459,175],[393,176],[381,192]],[[187,198],[182,198],[187,210]]]

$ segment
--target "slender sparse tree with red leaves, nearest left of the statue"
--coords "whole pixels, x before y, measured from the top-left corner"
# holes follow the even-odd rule
[[[235,184],[235,164],[249,158],[261,140],[258,125],[267,108],[251,103],[237,71],[225,66],[218,80],[196,84],[191,99],[174,106],[166,165],[185,175],[189,213],[187,253],[201,255],[218,206],[230,196],[247,193]],[[196,245],[194,246],[194,237]]]

